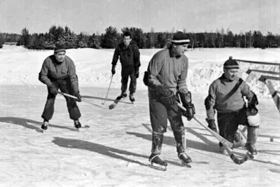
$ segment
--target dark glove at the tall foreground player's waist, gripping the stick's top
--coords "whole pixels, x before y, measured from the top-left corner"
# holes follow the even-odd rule
[[[174,92],[170,90],[165,85],[158,85],[155,88],[156,95],[158,95],[158,100],[167,107],[170,107],[176,103],[176,96]]]

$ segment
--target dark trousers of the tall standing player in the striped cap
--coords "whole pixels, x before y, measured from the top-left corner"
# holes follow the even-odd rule
[[[148,93],[150,118],[153,129],[153,136],[167,132],[167,119],[172,127],[174,138],[177,145],[181,146],[181,152],[184,151],[185,127],[183,125],[181,109],[177,104],[165,106],[151,92]],[[152,153],[160,154],[160,150],[152,148]]]

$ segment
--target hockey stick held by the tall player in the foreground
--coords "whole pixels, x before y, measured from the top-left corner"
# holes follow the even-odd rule
[[[185,107],[183,107],[181,104],[179,104],[179,102],[177,102],[177,105],[179,106],[180,109],[182,109],[183,111],[187,111],[185,109]],[[237,165],[241,165],[242,163],[246,162],[249,158],[249,156],[246,154],[246,156],[242,159],[236,158],[235,154],[232,153],[230,147],[233,146],[233,144],[224,139],[223,137],[221,137],[220,134],[214,132],[213,130],[211,130],[209,127],[207,127],[206,125],[204,125],[203,123],[200,122],[200,120],[198,120],[197,118],[193,117],[198,123],[200,123],[200,125],[202,125],[206,130],[208,130],[214,137],[216,137],[216,139],[218,139],[218,141],[220,141],[223,146],[225,146],[225,150],[228,152],[228,155],[230,155],[230,158],[232,159],[233,162],[235,162]]]

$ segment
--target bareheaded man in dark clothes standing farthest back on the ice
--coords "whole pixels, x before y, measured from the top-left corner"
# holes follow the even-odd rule
[[[112,74],[116,74],[116,64],[120,57],[120,64],[122,65],[122,87],[121,94],[117,99],[127,97],[127,83],[130,77],[130,101],[134,102],[134,92],[137,87],[137,78],[139,78],[139,67],[140,67],[140,53],[138,47],[131,43],[132,36],[130,32],[123,34],[123,43],[118,44],[112,61]]]

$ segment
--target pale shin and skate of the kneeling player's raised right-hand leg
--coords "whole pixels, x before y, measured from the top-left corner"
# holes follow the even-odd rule
[[[254,126],[249,126],[248,127],[248,132],[247,132],[247,142],[245,144],[248,152],[253,155],[256,155],[258,153],[257,149],[255,148],[255,142],[257,141],[258,138],[258,130],[259,127],[254,127]]]

